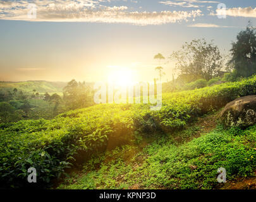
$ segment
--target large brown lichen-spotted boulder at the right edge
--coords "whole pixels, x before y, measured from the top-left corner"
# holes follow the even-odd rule
[[[221,111],[221,121],[227,127],[246,128],[256,124],[256,95],[237,98]]]

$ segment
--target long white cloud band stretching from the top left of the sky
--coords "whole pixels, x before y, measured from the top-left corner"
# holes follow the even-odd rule
[[[25,21],[84,21],[102,23],[130,23],[134,25],[161,25],[188,21],[189,18],[202,16],[202,11],[129,11],[126,6],[102,6],[102,0],[31,0],[37,6],[37,18],[27,16],[28,2],[0,2],[0,19]]]

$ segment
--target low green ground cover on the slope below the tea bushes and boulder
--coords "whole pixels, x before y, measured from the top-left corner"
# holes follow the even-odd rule
[[[192,136],[197,126],[180,132]],[[177,143],[166,135],[145,146],[125,145],[92,158],[58,189],[212,189],[220,187],[217,169],[227,181],[253,176],[256,169],[256,126],[242,131],[214,131]]]

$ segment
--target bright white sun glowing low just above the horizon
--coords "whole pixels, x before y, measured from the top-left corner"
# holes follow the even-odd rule
[[[130,69],[119,69],[111,71],[107,80],[116,86],[131,86],[135,83],[135,73]]]

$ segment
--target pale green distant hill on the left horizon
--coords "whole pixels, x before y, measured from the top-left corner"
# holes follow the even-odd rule
[[[67,82],[54,82],[54,81],[21,81],[21,82],[11,82],[11,81],[0,81],[0,90],[13,90],[17,88],[23,92],[32,92],[37,90],[39,93],[58,93],[62,92],[64,86]]]

